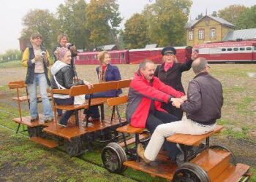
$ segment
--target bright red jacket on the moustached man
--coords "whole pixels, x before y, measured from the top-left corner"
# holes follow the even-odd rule
[[[170,98],[180,98],[183,95],[183,92],[167,86],[155,76],[148,82],[144,76],[135,73],[129,84],[127,121],[133,127],[145,128],[152,100],[157,111],[166,112],[161,108],[161,103],[168,103]]]

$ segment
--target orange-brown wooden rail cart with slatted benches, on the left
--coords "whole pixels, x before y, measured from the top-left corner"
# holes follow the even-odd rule
[[[72,97],[77,95],[90,95],[89,99],[85,103],[79,105],[69,105],[61,106],[56,105],[53,96],[51,96],[53,104],[54,119],[53,122],[45,123],[42,119],[42,114],[39,114],[39,120],[36,122],[30,122],[30,116],[22,116],[20,109],[20,102],[26,97],[29,101],[28,95],[20,96],[20,88],[26,88],[26,84],[21,82],[10,82],[10,89],[17,90],[18,100],[18,111],[20,117],[13,119],[14,122],[18,123],[18,128],[20,124],[27,127],[29,132],[29,137],[31,141],[40,143],[43,146],[49,148],[55,148],[60,145],[64,145],[64,149],[70,156],[78,156],[84,151],[91,149],[91,144],[94,141],[99,142],[110,142],[118,140],[117,127],[120,127],[121,123],[125,123],[124,119],[116,119],[114,116],[114,108],[111,116],[105,116],[104,104],[108,98],[91,98],[91,95],[96,92],[105,92],[108,90],[118,90],[121,88],[129,87],[130,80],[121,80],[114,82],[104,82],[99,84],[94,84],[91,89],[86,85],[78,85],[71,87],[69,90],[65,89],[53,89],[50,95],[54,93],[67,94]],[[84,116],[81,111],[82,109],[88,109],[91,106],[100,106],[101,119],[96,121],[89,121],[89,116]],[[74,116],[69,119],[69,124],[67,127],[61,127],[58,124],[59,116],[56,114],[57,108],[65,111],[74,110]],[[120,122],[121,121],[121,122]],[[17,130],[18,132],[18,130]]]

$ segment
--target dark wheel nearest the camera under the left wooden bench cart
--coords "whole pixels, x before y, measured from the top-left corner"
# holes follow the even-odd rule
[[[83,153],[83,141],[80,137],[71,138],[71,140],[64,141],[64,148],[70,157],[79,156]]]

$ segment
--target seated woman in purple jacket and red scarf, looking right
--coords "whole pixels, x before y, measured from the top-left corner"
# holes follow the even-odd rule
[[[111,57],[107,51],[99,52],[98,60],[100,65],[96,68],[99,83],[101,82],[112,82],[121,80],[120,71],[117,66],[110,64]],[[92,95],[92,98],[113,98],[121,94],[121,89],[110,90],[106,92],[98,92]],[[89,98],[89,95],[86,95]],[[85,110],[84,114],[87,114],[90,120],[99,119],[99,108],[98,106],[91,106],[88,110]]]

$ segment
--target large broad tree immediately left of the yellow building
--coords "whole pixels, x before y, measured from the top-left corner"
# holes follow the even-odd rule
[[[147,5],[144,15],[148,23],[148,37],[159,46],[185,44],[185,30],[189,15],[190,0],[156,0]]]

